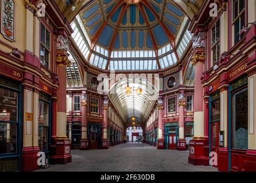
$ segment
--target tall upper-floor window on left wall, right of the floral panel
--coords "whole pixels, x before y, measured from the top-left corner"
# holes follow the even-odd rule
[[[49,69],[50,46],[51,46],[51,33],[41,23],[41,47],[40,47],[40,60],[41,64]]]

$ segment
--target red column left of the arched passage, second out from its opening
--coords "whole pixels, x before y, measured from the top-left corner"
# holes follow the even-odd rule
[[[89,141],[87,139],[87,94],[84,91],[82,96],[82,138],[80,140],[80,150],[88,150]]]

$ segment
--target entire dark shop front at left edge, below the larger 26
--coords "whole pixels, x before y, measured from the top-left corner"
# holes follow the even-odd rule
[[[21,169],[21,83],[0,75],[0,171]]]

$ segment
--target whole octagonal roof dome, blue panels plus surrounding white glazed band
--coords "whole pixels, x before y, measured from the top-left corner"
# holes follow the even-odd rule
[[[163,2],[92,1],[72,21],[72,38],[84,58],[100,69],[156,70],[173,66],[191,39],[189,20],[173,1]],[[95,41],[95,46],[91,45]]]

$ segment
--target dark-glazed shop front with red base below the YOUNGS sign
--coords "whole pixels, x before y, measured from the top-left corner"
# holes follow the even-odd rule
[[[248,77],[243,75],[228,87],[228,168],[245,170],[248,149]]]

